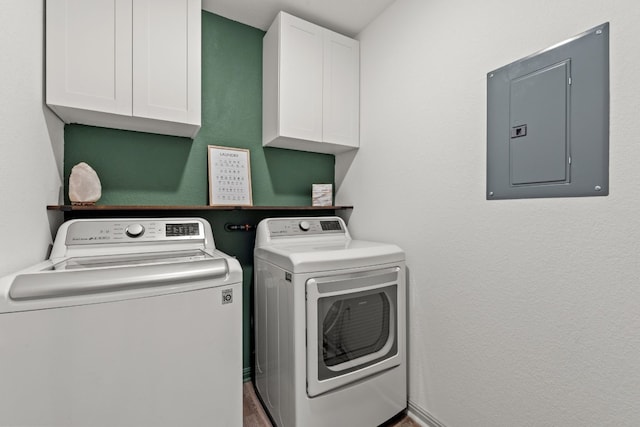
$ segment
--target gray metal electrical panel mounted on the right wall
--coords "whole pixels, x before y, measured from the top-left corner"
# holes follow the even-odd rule
[[[609,24],[487,74],[487,199],[609,194]]]

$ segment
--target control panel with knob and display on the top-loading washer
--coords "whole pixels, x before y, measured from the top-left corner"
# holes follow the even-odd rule
[[[69,226],[66,245],[203,240],[199,221],[112,220],[75,222]]]

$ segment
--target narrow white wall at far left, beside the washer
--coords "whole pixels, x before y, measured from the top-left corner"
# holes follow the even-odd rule
[[[0,276],[46,258],[61,216],[63,124],[44,105],[44,1],[0,4]]]

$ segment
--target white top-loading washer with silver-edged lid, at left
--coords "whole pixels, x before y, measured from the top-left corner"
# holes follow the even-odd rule
[[[0,425],[242,426],[242,270],[202,219],[64,223],[0,278]]]

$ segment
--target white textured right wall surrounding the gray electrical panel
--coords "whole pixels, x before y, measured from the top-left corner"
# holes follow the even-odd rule
[[[610,195],[486,201],[486,73],[606,21]],[[634,0],[397,0],[359,36],[337,204],[406,250],[410,402],[447,427],[640,425],[639,23]]]

